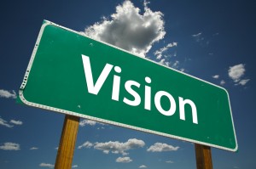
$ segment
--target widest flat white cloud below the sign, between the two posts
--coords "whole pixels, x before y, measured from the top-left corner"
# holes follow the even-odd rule
[[[120,143],[118,141],[112,142],[106,142],[106,143],[95,143],[94,148],[102,150],[103,153],[108,154],[109,152],[113,154],[122,154],[122,155],[128,155],[125,151],[129,149],[137,149],[141,148],[145,145],[143,140],[138,140],[136,138],[129,139],[125,143]]]

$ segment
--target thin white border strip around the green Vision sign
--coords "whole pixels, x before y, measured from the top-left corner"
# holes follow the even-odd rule
[[[179,140],[183,140],[183,141],[187,141],[187,142],[190,142],[190,143],[194,143],[194,144],[203,144],[203,145],[207,145],[207,146],[210,146],[210,147],[214,147],[214,148],[218,148],[218,149],[224,149],[224,150],[229,150],[229,151],[232,151],[232,152],[236,152],[238,150],[238,144],[237,144],[237,139],[236,139],[236,130],[235,130],[235,126],[234,126],[234,121],[233,121],[233,115],[232,115],[232,110],[231,110],[231,106],[230,106],[230,96],[229,96],[229,93],[227,92],[227,90],[224,88],[224,87],[219,87],[218,85],[215,85],[211,82],[207,82],[207,81],[204,81],[198,77],[195,77],[195,76],[191,76],[189,74],[186,74],[182,71],[179,71],[179,70],[175,70],[171,67],[167,67],[166,65],[160,65],[159,63],[157,62],[154,62],[153,60],[150,60],[150,59],[147,59],[147,58],[143,58],[147,61],[150,61],[150,62],[153,62],[154,64],[157,64],[157,65],[160,65],[160,66],[163,66],[163,67],[166,67],[167,69],[170,69],[170,70],[175,70],[177,71],[178,73],[182,73],[183,75],[185,76],[190,76],[192,78],[195,78],[201,82],[206,82],[212,86],[215,86],[215,87],[218,87],[218,88],[221,88],[225,91],[225,93],[227,93],[227,96],[228,96],[228,101],[229,101],[229,107],[230,107],[230,117],[231,117],[231,121],[232,121],[232,127],[233,127],[233,131],[234,131],[234,136],[235,136],[235,141],[236,141],[236,148],[235,149],[230,149],[230,148],[226,148],[226,147],[223,147],[223,146],[219,146],[219,145],[216,145],[216,144],[208,144],[208,143],[204,143],[204,142],[201,142],[201,141],[197,141],[197,140],[194,140],[194,139],[190,139],[190,138],[183,138],[183,137],[179,137],[179,136],[175,136],[175,135],[172,135],[172,134],[166,134],[166,133],[163,133],[163,132],[155,132],[153,130],[149,130],[149,129],[145,129],[145,128],[141,128],[141,127],[134,127],[134,126],[131,126],[131,125],[126,125],[126,124],[123,124],[123,123],[119,123],[119,122],[115,122],[115,121],[108,121],[108,120],[104,120],[104,119],[101,119],[101,118],[97,118],[97,117],[93,117],[93,116],[90,116],[90,115],[82,115],[82,114],[79,114],[79,113],[76,113],[76,112],[73,112],[73,111],[69,111],[69,110],[61,110],[61,109],[58,109],[58,108],[55,108],[55,107],[50,107],[48,105],[44,105],[44,104],[36,104],[36,103],[32,103],[30,101],[27,101],[23,95],[23,89],[26,87],[26,82],[27,82],[27,79],[28,79],[28,76],[29,76],[29,73],[30,73],[30,70],[32,68],[32,64],[33,64],[33,60],[35,59],[35,56],[37,54],[37,51],[38,51],[38,45],[41,41],[41,37],[43,35],[43,32],[44,32],[44,28],[47,26],[47,25],[55,25],[57,27],[60,27],[61,29],[64,29],[64,30],[67,30],[67,31],[72,31],[73,33],[76,33],[76,34],[79,34],[80,36],[83,36],[83,37],[87,37],[83,32],[79,32],[79,31],[73,31],[69,28],[66,28],[64,26],[61,26],[61,25],[57,25],[53,22],[50,22],[49,20],[44,20],[43,22],[43,25],[41,26],[41,29],[39,31],[39,34],[38,34],[38,39],[36,41],[36,44],[33,48],[33,51],[32,51],[32,56],[31,56],[31,59],[29,61],[29,64],[27,66],[27,69],[26,69],[26,73],[25,73],[25,76],[23,78],[23,82],[21,83],[21,86],[20,86],[20,90],[19,90],[19,99],[21,100],[22,103],[24,104],[27,104],[29,106],[32,106],[32,107],[36,107],[36,108],[40,108],[40,109],[44,109],[44,110],[52,110],[52,111],[55,111],[55,112],[59,112],[59,113],[62,113],[62,114],[65,114],[65,115],[75,115],[75,116],[79,116],[79,117],[82,117],[82,118],[85,118],[85,119],[89,119],[89,120],[92,120],[92,121],[99,121],[99,122],[103,122],[103,123],[108,123],[108,124],[111,124],[111,125],[114,125],[114,126],[118,126],[118,127],[125,127],[125,128],[130,128],[130,129],[133,129],[133,130],[137,130],[137,131],[141,131],[141,132],[148,132],[148,133],[153,133],[153,134],[156,134],[156,135],[160,135],[160,136],[164,136],[164,137],[167,137],[167,138],[175,138],[175,139],[179,139]],[[87,38],[90,38],[90,39],[93,39],[91,37],[87,37]],[[102,41],[99,41],[99,40],[96,40],[96,39],[93,39],[95,40],[96,42],[102,42]],[[102,42],[110,47],[113,47],[113,48],[117,48],[119,50],[122,50],[124,51],[125,53],[128,53],[128,54],[131,54],[131,52],[129,51],[126,51],[122,48],[118,48],[118,47],[115,47],[107,42]],[[133,56],[136,56],[136,57],[139,57],[139,58],[142,58],[136,54],[131,54]]]

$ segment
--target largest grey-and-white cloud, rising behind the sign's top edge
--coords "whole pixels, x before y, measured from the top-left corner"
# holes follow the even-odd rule
[[[164,38],[163,14],[153,12],[144,2],[143,13],[131,1],[126,0],[116,7],[110,20],[103,17],[101,22],[90,25],[85,35],[124,48],[133,54],[145,57],[154,42]]]

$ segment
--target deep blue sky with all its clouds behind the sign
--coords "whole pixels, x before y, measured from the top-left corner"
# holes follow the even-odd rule
[[[236,153],[218,169],[256,166],[254,1],[6,1],[0,6],[0,166],[54,168],[65,115],[15,99],[43,20],[227,89]],[[134,29],[136,26],[136,29]],[[196,168],[194,144],[81,119],[73,168]]]

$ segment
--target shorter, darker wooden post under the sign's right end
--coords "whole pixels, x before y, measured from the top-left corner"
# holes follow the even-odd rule
[[[195,158],[197,169],[212,169],[212,153],[209,146],[195,144]]]

